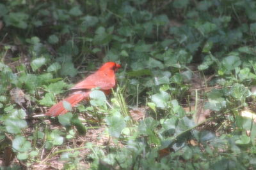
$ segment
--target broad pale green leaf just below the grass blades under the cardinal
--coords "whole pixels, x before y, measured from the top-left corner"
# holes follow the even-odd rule
[[[105,121],[108,124],[109,134],[115,138],[119,138],[121,132],[126,127],[124,118],[118,115],[113,115],[111,117],[106,117]]]

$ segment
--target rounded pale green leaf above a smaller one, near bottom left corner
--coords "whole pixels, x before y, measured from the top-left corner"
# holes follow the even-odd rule
[[[17,136],[15,139],[13,139],[12,148],[16,152],[28,152],[31,150],[31,143],[26,141],[26,138],[23,136]]]

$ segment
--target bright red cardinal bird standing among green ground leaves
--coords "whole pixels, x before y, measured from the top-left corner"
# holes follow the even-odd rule
[[[121,66],[115,62],[106,62],[99,68],[98,71],[91,74],[71,88],[70,90],[76,90],[76,92],[70,94],[70,96],[65,98],[63,101],[67,101],[73,107],[84,99],[88,100],[91,89],[95,87],[99,87],[100,90],[105,92],[105,94],[109,94],[111,89],[116,85],[115,71],[117,71],[117,69],[120,67]],[[64,108],[63,101],[54,104],[49,111],[45,113],[45,115],[57,117],[58,115],[67,113],[68,110]]]

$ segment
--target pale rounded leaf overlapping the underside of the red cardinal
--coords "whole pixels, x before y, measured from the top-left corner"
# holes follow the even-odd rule
[[[102,106],[105,104],[106,100],[104,92],[100,90],[93,90],[90,93],[90,104],[92,104],[92,106]]]

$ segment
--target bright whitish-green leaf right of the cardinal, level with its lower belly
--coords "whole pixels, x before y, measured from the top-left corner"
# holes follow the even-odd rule
[[[151,99],[158,108],[166,108],[168,101],[170,101],[170,96],[168,93],[161,91],[158,94],[154,94]]]

